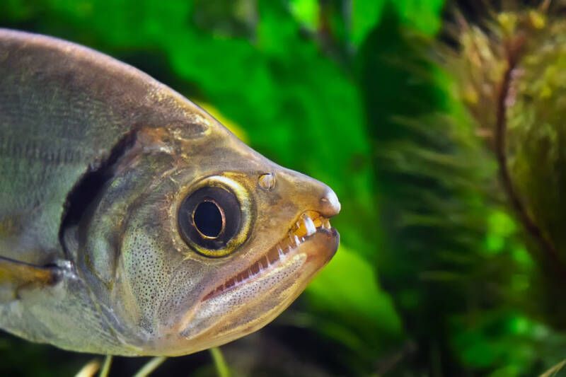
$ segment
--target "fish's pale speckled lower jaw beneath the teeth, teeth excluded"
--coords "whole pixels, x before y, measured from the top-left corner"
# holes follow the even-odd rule
[[[183,321],[185,325],[180,324],[181,337],[195,344],[191,352],[247,335],[284,311],[330,261],[340,240],[335,229],[317,231],[311,237],[259,277],[200,301]],[[197,345],[201,342],[206,347]]]

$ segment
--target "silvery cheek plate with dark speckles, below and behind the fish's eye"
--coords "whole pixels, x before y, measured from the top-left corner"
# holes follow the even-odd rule
[[[190,258],[178,253],[168,233],[177,230],[163,226],[165,221],[159,221],[159,228],[148,221],[140,216],[126,229],[116,287],[116,293],[122,293],[116,304],[146,337],[158,340],[175,333],[178,321],[200,300],[203,289],[213,286],[216,261],[206,263],[200,255]]]

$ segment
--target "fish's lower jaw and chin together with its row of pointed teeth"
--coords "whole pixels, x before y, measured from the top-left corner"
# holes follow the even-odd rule
[[[259,260],[204,294],[178,327],[180,344],[166,354],[225,344],[260,329],[284,311],[330,261],[340,240],[328,219],[318,216],[313,221],[313,213],[309,214],[301,216],[289,235]]]

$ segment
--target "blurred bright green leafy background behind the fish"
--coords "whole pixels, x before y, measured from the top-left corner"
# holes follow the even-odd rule
[[[337,255],[221,347],[234,376],[536,376],[566,358],[566,332],[539,310],[529,240],[455,78],[428,59],[456,7],[478,16],[442,0],[2,0],[0,27],[132,64],[333,187]],[[95,357],[5,333],[0,355],[0,376],[71,376]],[[154,373],[215,375],[208,352]]]

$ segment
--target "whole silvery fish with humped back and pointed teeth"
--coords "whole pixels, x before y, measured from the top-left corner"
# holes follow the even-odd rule
[[[231,342],[276,318],[335,255],[339,211],[323,182],[138,69],[0,29],[6,332],[122,356]]]

